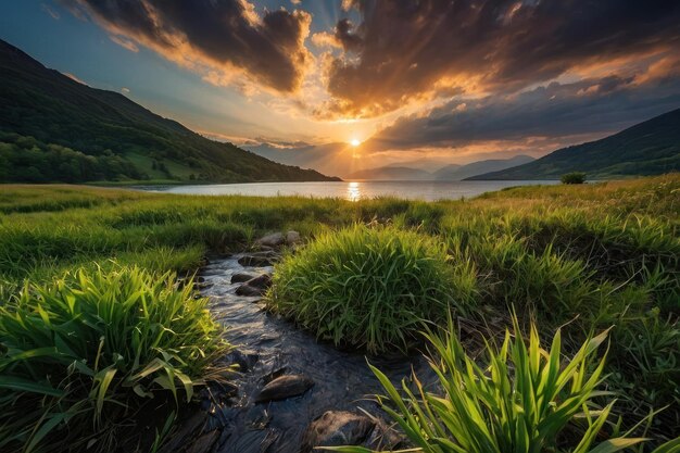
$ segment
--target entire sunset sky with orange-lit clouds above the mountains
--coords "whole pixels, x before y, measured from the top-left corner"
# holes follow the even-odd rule
[[[538,158],[680,108],[677,0],[3,0],[0,38],[340,176]]]

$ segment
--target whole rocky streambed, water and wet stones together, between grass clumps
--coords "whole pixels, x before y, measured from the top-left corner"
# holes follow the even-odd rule
[[[190,453],[298,453],[317,445],[395,448],[370,397],[382,389],[367,360],[393,381],[429,369],[425,360],[366,357],[317,342],[314,336],[264,310],[272,251],[213,257],[200,274],[201,292],[214,316],[228,326],[239,365],[229,386],[212,385],[201,411],[181,425],[164,451]]]

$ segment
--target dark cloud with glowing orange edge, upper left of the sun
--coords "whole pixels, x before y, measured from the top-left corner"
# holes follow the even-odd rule
[[[84,8],[111,34],[134,39],[173,61],[218,73],[242,71],[278,91],[295,91],[311,54],[311,16],[265,11],[247,0],[62,0]],[[219,79],[222,74],[213,74]],[[228,77],[227,77],[228,78]]]

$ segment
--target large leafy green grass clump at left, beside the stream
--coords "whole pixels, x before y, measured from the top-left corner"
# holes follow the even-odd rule
[[[136,267],[26,286],[0,305],[0,450],[108,451],[152,398],[189,401],[228,348],[205,304]]]

